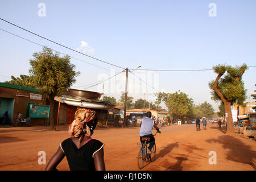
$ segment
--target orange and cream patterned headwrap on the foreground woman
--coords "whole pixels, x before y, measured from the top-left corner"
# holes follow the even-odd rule
[[[95,117],[96,111],[78,108],[75,113],[75,120],[68,127],[69,135],[71,135],[71,137],[79,138],[80,142],[84,138],[84,135],[90,137],[97,124],[97,121],[95,125],[91,123]]]

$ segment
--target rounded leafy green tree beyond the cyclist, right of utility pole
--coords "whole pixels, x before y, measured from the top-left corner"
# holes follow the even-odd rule
[[[175,119],[185,117],[193,106],[192,98],[188,98],[188,95],[180,90],[175,93],[158,93],[156,103],[161,103],[161,101],[166,104]]]

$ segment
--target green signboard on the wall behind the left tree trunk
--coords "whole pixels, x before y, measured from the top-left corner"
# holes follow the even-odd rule
[[[49,105],[30,105],[30,118],[49,118]]]

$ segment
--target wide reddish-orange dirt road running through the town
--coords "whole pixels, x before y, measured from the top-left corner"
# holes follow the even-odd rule
[[[46,152],[46,162],[59,144],[69,137],[68,126],[49,131],[49,127],[1,127],[0,170],[44,170],[38,164],[39,151]],[[256,143],[252,139],[225,135],[224,129],[208,124],[196,131],[195,125],[172,125],[160,128],[156,135],[155,161],[142,170],[255,170]],[[92,138],[105,144],[107,170],[139,170],[137,155],[139,128],[97,128]],[[216,152],[217,164],[209,164],[210,151]],[[69,170],[67,159],[57,167]]]

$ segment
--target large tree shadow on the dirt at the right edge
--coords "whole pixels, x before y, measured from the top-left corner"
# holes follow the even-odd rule
[[[221,135],[217,139],[208,139],[205,141],[209,143],[222,144],[223,148],[229,150],[226,154],[226,159],[232,160],[233,162],[249,164],[254,168],[254,170],[256,170],[254,162],[256,158],[256,151],[252,150],[250,146],[244,144],[241,139],[230,135]]]

